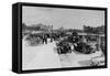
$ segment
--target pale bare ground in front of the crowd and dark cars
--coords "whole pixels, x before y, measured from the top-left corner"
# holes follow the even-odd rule
[[[50,42],[47,44],[41,44],[37,46],[30,46],[25,44],[25,41],[23,41],[23,69],[90,66],[90,59],[102,54],[101,51],[92,54],[82,54],[73,51],[66,55],[58,55],[55,52],[55,42]]]

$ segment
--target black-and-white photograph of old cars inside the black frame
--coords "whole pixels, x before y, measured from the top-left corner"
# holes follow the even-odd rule
[[[22,7],[22,70],[106,65],[103,10]]]

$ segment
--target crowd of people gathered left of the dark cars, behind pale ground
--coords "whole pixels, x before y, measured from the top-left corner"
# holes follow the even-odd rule
[[[50,42],[58,41],[61,39],[61,35],[58,33],[38,33],[38,34],[29,34],[26,36],[26,41],[30,41],[30,43],[34,44],[47,44],[48,40]]]

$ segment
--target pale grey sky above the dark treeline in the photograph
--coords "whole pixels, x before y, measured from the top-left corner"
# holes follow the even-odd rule
[[[44,8],[44,7],[23,7],[22,22],[26,25],[46,24],[54,29],[82,29],[82,25],[100,26],[105,25],[105,11]]]

